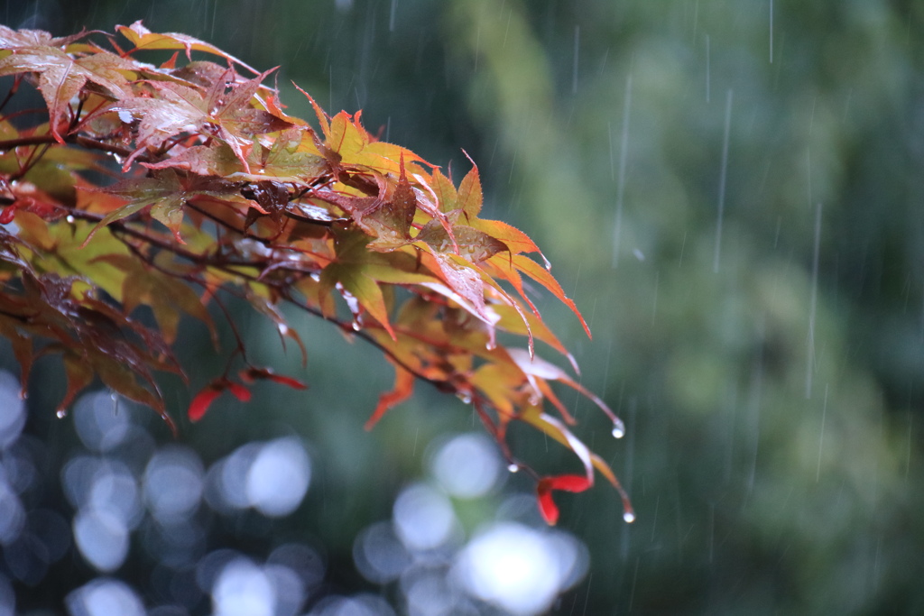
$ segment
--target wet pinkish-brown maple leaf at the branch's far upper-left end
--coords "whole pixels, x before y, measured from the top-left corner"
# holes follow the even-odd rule
[[[51,132],[58,143],[64,143],[61,122],[70,101],[87,81],[102,87],[116,99],[128,98],[131,89],[122,71],[135,68],[137,66],[132,62],[109,52],[73,58],[49,45],[15,47],[12,54],[0,59],[0,76],[18,73],[35,73],[39,76],[39,91],[48,105]]]

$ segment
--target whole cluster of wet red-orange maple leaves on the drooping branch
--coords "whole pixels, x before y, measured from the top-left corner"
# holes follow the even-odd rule
[[[36,357],[57,354],[67,376],[59,414],[99,378],[173,427],[155,373],[183,374],[171,353],[181,313],[214,336],[206,307],[233,294],[272,320],[284,343],[301,346],[280,309],[290,303],[367,339],[394,365],[394,389],[369,426],[417,380],[429,381],[474,405],[512,468],[537,479],[550,524],[553,490],[590,488],[594,469],[632,519],[612,470],[568,429],[574,419],[551,383],[589,396],[614,435],[622,424],[535,356],[541,341],[574,364],[525,279],[584,321],[528,236],[479,217],[477,167],[456,187],[414,152],[373,138],[359,112],[331,117],[303,92],[316,127],[286,115],[263,84],[272,70],[140,22],[117,31],[128,43],[0,26],[0,76],[11,81],[3,105],[30,84],[47,107],[0,119],[0,335],[11,341],[24,389]],[[148,50],[176,51],[154,66],[139,59]],[[40,122],[27,121],[35,115]],[[139,322],[142,307],[155,327]],[[524,347],[497,344],[498,331]],[[247,400],[253,380],[302,387],[250,364],[237,336],[225,372],[194,396],[189,419],[225,392]],[[583,472],[540,477],[517,461],[505,444],[512,421],[563,443]]]

